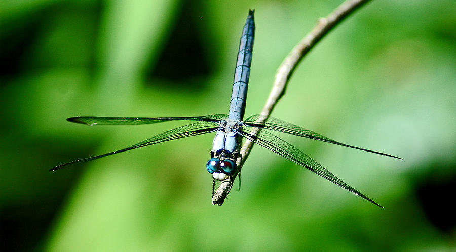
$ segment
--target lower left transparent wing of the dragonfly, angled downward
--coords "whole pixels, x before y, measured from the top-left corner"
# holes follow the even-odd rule
[[[189,137],[189,136],[206,134],[206,133],[215,131],[217,129],[217,127],[218,127],[218,125],[214,122],[196,122],[196,123],[188,124],[188,125],[178,127],[178,128],[172,129],[172,130],[168,130],[168,131],[158,134],[154,137],[151,137],[147,140],[136,143],[128,148],[115,150],[114,152],[105,153],[105,154],[101,154],[101,155],[90,157],[90,158],[74,160],[74,161],[71,161],[71,162],[68,162],[65,164],[58,165],[58,166],[52,168],[50,171],[55,171],[55,170],[62,169],[69,165],[83,163],[83,162],[103,158],[103,157],[106,157],[109,155],[126,152],[127,150],[136,149],[136,148],[144,147],[147,145],[152,145],[152,144],[156,144],[156,143],[160,143],[160,142],[175,140],[175,139]]]

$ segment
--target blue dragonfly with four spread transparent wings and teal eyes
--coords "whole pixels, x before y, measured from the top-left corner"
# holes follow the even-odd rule
[[[354,149],[364,150],[365,152],[375,153],[383,156],[401,159],[399,157],[376,152],[365,148],[355,147],[332,140],[328,137],[315,133],[311,130],[300,126],[282,121],[277,118],[269,117],[265,119],[261,115],[253,115],[244,119],[246,107],[247,88],[250,76],[250,65],[252,62],[253,41],[255,34],[254,11],[249,10],[244,28],[242,30],[241,41],[236,61],[236,68],[233,81],[233,91],[230,100],[230,110],[226,114],[213,114],[195,117],[96,117],[96,116],[78,116],[71,117],[67,120],[73,123],[80,123],[89,126],[94,125],[143,125],[154,124],[167,121],[196,121],[175,129],[168,130],[154,137],[148,138],[142,142],[131,145],[127,148],[115,150],[113,152],[101,154],[94,157],[74,160],[68,163],[60,164],[51,169],[59,170],[70,165],[96,160],[106,156],[123,153],[128,150],[141,148],[165,141],[176,140],[185,137],[198,136],[208,133],[214,133],[215,137],[210,151],[210,159],[206,163],[206,170],[212,174],[213,189],[215,181],[230,179],[234,182],[236,175],[241,171],[240,164],[242,155],[240,154],[241,143],[245,138],[264,148],[272,150],[298,165],[307,168],[317,175],[331,181],[332,183],[358,195],[371,203],[382,207],[372,199],[368,198],[358,190],[354,189],[344,181],[337,178],[330,171],[318,164],[312,158],[307,156],[298,148],[282,140],[281,138],[266,131],[277,131],[295,136],[310,138],[313,140],[328,142]],[[263,122],[258,122],[259,120]],[[260,129],[255,132],[255,128]],[[240,176],[239,176],[240,177]],[[240,179],[239,179],[240,180]],[[382,207],[383,208],[383,207]]]

